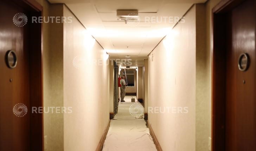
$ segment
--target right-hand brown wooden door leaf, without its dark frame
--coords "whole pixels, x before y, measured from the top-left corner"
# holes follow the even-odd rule
[[[226,55],[227,151],[256,150],[255,8],[255,1],[247,0],[232,9],[229,15],[230,42]],[[250,59],[247,71],[240,71],[238,67],[238,59],[243,53],[247,53]]]

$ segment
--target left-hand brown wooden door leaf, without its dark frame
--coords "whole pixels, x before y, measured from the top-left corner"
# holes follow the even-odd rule
[[[1,14],[6,12],[5,15],[0,15],[0,150],[28,151],[30,110],[26,109],[30,109],[30,63],[27,26],[18,27],[13,23],[15,14],[26,12],[8,1],[0,2],[0,10]],[[17,65],[14,68],[9,68],[5,62],[9,50],[17,55]],[[15,115],[15,110],[19,114]]]

